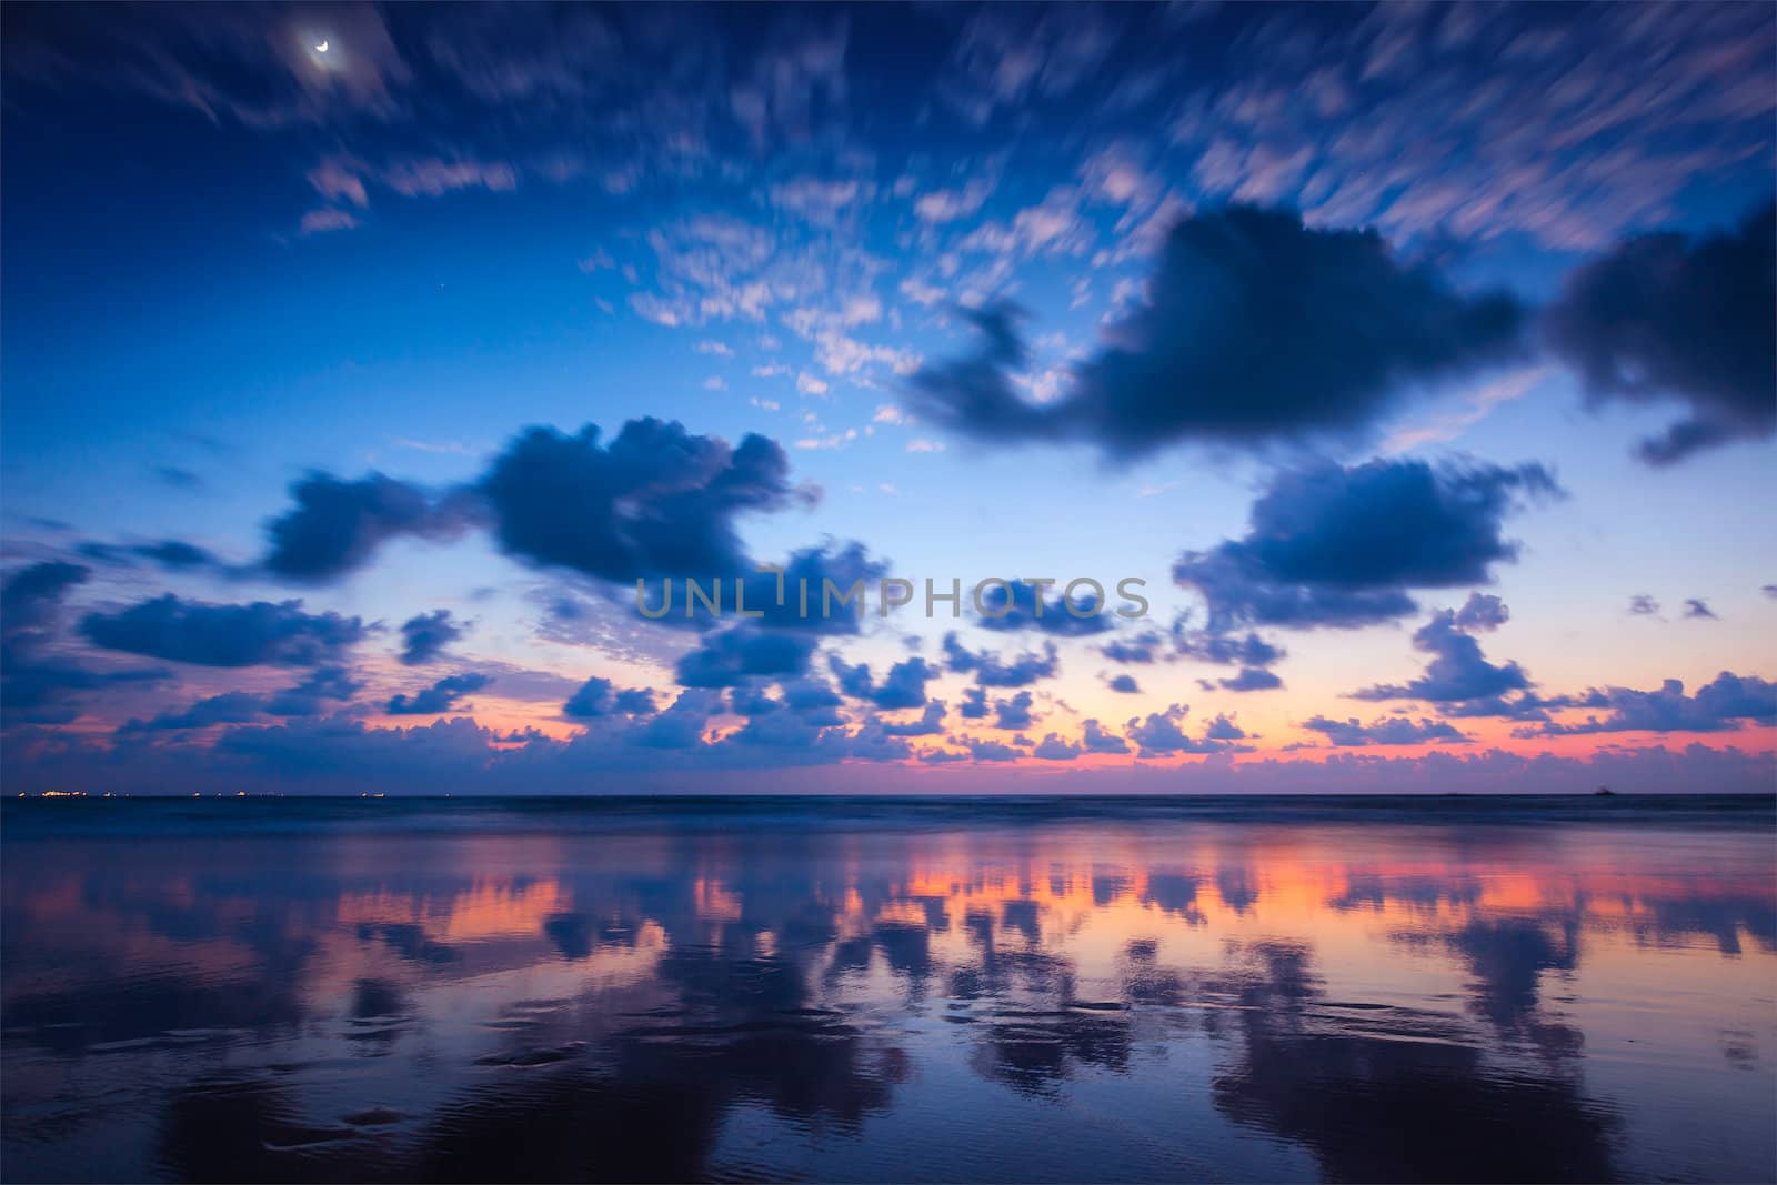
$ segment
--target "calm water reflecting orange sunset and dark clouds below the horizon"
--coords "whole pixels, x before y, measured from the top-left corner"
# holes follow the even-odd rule
[[[1770,1180],[1777,1157],[1768,805],[391,805],[373,831],[55,808],[5,819],[7,1180]]]

